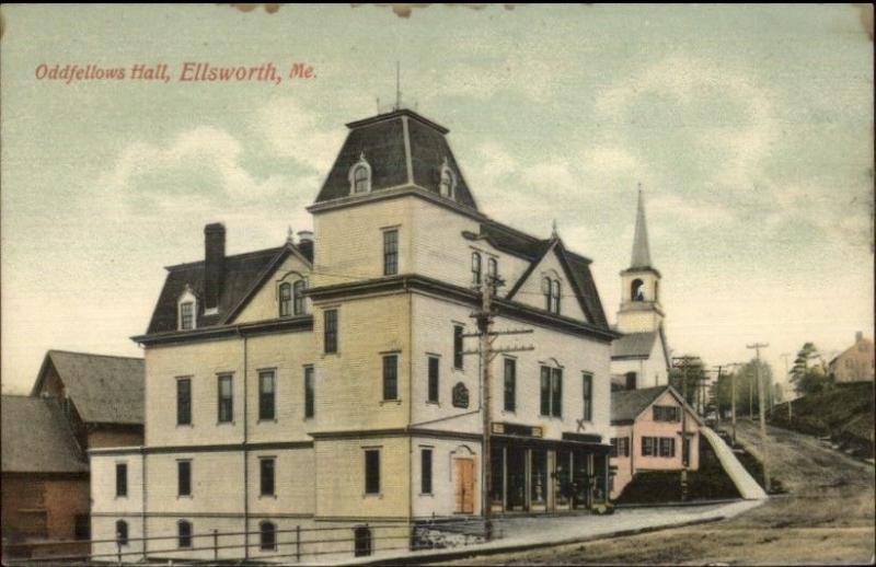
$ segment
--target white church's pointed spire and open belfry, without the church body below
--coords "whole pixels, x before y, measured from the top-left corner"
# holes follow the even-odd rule
[[[621,333],[653,333],[662,325],[660,305],[660,273],[654,267],[645,222],[645,201],[638,187],[636,228],[630,267],[621,271],[621,309],[618,331]]]

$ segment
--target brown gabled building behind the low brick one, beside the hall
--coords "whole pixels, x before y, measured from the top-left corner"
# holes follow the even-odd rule
[[[49,350],[31,391],[58,400],[80,447],[143,440],[143,359]]]

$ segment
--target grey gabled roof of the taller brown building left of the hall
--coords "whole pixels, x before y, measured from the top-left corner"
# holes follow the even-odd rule
[[[48,367],[58,372],[79,417],[87,424],[143,423],[142,358],[49,350],[32,395],[42,393]]]

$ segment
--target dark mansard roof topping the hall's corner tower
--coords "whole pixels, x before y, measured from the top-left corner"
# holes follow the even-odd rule
[[[406,139],[403,125],[405,117]],[[407,109],[349,123],[347,127],[350,131],[316,196],[316,202],[349,196],[349,171],[365,155],[371,166],[372,192],[414,184],[439,193],[441,167],[447,160],[457,176],[457,202],[477,209],[447,142],[447,128]],[[411,151],[412,178],[407,172],[407,148]]]

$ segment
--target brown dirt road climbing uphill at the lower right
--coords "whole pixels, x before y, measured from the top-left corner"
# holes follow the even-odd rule
[[[737,436],[758,453],[758,428]],[[717,523],[464,559],[457,565],[823,565],[872,564],[874,467],[817,439],[769,428],[770,462],[788,494]]]

